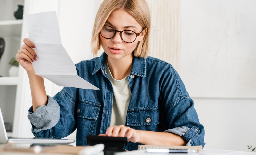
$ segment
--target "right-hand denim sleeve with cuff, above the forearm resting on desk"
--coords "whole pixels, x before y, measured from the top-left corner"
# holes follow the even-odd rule
[[[199,122],[193,100],[171,65],[161,78],[160,97],[169,124],[164,132],[180,135],[188,146],[204,147],[204,126]]]

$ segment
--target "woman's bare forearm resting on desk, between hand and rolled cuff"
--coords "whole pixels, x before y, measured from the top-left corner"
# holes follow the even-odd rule
[[[186,145],[186,141],[179,135],[169,132],[140,131],[139,143],[155,145]]]

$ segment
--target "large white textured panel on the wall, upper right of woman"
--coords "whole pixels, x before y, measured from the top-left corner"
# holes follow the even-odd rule
[[[181,67],[191,96],[256,98],[255,7],[252,0],[181,1]]]

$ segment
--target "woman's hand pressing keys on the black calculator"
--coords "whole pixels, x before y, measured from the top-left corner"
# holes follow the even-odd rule
[[[133,143],[137,143],[140,140],[140,132],[138,130],[124,125],[108,127],[106,134],[100,134],[99,136],[127,137],[128,141]]]

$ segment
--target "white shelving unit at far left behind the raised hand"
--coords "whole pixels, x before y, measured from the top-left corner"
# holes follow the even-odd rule
[[[24,0],[0,0],[0,38],[5,41],[4,53],[0,59],[0,107],[4,122],[13,127],[16,92],[19,77],[9,77],[10,60],[15,57],[20,49],[23,20],[16,20],[14,11],[18,5],[24,5]],[[12,136],[12,131],[7,131]]]

